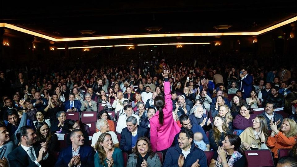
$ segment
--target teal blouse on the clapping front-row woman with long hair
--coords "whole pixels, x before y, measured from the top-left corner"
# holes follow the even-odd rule
[[[114,152],[112,153],[112,158],[114,159],[113,167],[124,167],[124,159],[123,159],[123,153],[122,153],[121,149],[114,148]],[[102,165],[99,155],[98,155],[98,153],[96,153],[94,155],[95,167],[108,167],[106,160],[107,160],[107,158],[105,158],[105,160],[104,160],[105,165]]]

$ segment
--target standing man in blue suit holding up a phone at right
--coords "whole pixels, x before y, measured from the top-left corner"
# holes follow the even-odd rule
[[[242,98],[246,100],[246,98],[251,96],[250,93],[253,89],[253,76],[249,75],[248,71],[244,68],[239,73],[241,78],[239,82],[239,90],[243,92]]]

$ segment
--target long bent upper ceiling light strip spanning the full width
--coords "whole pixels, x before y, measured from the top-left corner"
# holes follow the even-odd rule
[[[37,32],[33,32],[24,28],[14,26],[12,24],[0,23],[0,27],[11,28],[16,31],[24,32],[33,36],[38,36],[50,41],[66,42],[66,41],[82,41],[82,40],[104,40],[104,39],[123,39],[123,38],[151,38],[151,37],[177,37],[177,36],[246,36],[260,35],[262,33],[279,28],[283,25],[297,21],[297,16],[275,24],[258,32],[209,32],[209,33],[174,33],[174,34],[144,34],[144,35],[118,35],[118,36],[92,36],[92,37],[77,37],[77,38],[53,38]]]

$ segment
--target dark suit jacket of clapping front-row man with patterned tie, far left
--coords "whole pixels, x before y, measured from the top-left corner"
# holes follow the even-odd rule
[[[38,152],[40,150],[40,145],[33,146],[35,154],[38,158]],[[29,167],[38,167],[35,162],[31,162],[27,152],[25,152],[24,148],[22,148],[20,145],[19,147],[15,148],[11,153],[7,156],[10,166],[29,166]],[[51,166],[50,165],[50,155],[46,160],[42,160],[40,162],[41,166]]]

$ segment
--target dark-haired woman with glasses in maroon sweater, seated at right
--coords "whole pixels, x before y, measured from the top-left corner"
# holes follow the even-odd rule
[[[233,119],[233,128],[245,130],[253,126],[252,120],[256,118],[256,114],[250,114],[250,106],[244,104],[239,109],[240,114]]]

